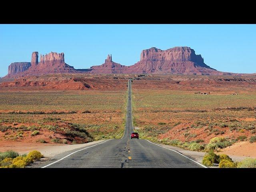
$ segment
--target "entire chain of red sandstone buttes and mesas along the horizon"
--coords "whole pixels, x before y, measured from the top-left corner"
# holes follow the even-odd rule
[[[5,77],[41,75],[52,73],[88,73],[88,74],[224,74],[204,63],[201,55],[189,47],[174,47],[161,50],[155,47],[142,50],[140,61],[131,66],[124,66],[112,61],[108,55],[105,62],[89,69],[75,69],[65,63],[64,53],[50,52],[40,54],[33,52],[31,62],[16,62],[8,67]],[[230,74],[230,73],[229,73]]]

